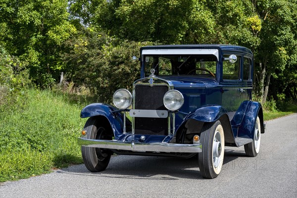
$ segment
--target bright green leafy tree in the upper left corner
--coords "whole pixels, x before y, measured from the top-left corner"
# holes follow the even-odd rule
[[[0,45],[29,63],[41,86],[49,86],[64,67],[61,45],[76,31],[66,8],[66,0],[0,0]]]

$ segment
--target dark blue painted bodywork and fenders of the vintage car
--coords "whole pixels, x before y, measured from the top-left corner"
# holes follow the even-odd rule
[[[184,95],[184,104],[176,112],[175,129],[184,126],[189,119],[195,119],[202,122],[214,122],[221,116],[227,114],[230,119],[230,126],[233,136],[252,138],[256,116],[261,110],[261,104],[250,101],[252,91],[252,79],[250,80],[223,80],[223,57],[224,54],[236,54],[251,59],[251,72],[253,71],[253,54],[244,47],[231,45],[166,45],[166,46],[149,46],[143,49],[218,49],[219,60],[216,68],[216,79],[201,76],[157,76],[163,79],[180,91]],[[241,58],[241,66],[243,58]],[[241,76],[243,70],[240,69]],[[253,74],[251,73],[251,77]],[[141,78],[145,78],[145,65],[141,62]],[[148,81],[146,79],[146,81]],[[149,81],[148,81],[149,82]],[[168,83],[169,84],[169,83]],[[240,89],[244,92],[240,92]],[[104,116],[110,122],[115,139],[126,141],[141,141],[138,135],[131,136],[128,132],[123,135],[123,114],[112,113],[117,110],[115,107],[104,104],[94,103],[86,106],[81,117]],[[261,127],[263,126],[261,118]],[[232,133],[230,131],[230,133]],[[264,132],[264,130],[263,130]],[[163,136],[146,135],[146,142],[160,142]],[[232,135],[231,135],[232,136]],[[166,142],[169,141],[166,140]]]

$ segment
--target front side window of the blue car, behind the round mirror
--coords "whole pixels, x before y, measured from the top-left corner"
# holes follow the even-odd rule
[[[230,54],[224,55],[228,58]],[[224,80],[240,80],[240,62],[241,56],[237,55],[237,61],[231,63],[229,60],[223,61],[223,79]]]

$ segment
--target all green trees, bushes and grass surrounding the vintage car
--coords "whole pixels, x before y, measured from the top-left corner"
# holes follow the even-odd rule
[[[0,0],[0,182],[81,163],[81,108],[131,90],[142,46],[245,46],[265,119],[296,112],[296,18],[296,0]]]

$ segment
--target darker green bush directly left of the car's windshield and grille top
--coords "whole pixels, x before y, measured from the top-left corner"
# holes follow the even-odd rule
[[[132,82],[140,77],[139,49],[152,43],[122,41],[102,32],[86,29],[65,43],[63,60],[68,65],[68,79],[84,85],[99,101],[111,102],[120,88],[132,91]]]

